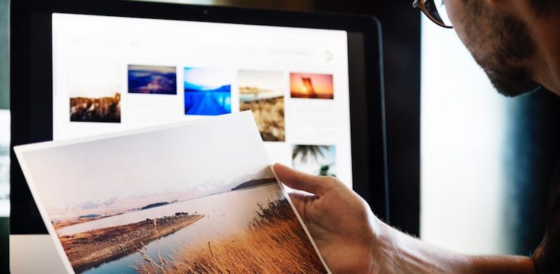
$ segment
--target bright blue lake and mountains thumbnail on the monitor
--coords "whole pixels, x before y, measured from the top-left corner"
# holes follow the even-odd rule
[[[235,71],[185,68],[185,114],[222,115],[232,112]]]

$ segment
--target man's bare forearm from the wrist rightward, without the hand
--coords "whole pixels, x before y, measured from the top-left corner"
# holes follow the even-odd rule
[[[521,256],[470,256],[435,247],[380,225],[373,250],[374,273],[535,273]]]

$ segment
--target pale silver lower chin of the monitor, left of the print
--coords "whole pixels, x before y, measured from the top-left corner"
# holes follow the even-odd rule
[[[48,234],[10,235],[10,273],[66,273]]]

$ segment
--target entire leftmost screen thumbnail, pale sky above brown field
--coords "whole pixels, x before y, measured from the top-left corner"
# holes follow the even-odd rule
[[[70,122],[120,123],[120,70],[115,64],[76,64],[68,80]]]

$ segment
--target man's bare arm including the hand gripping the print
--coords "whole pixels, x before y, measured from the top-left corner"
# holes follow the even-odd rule
[[[333,273],[535,273],[528,257],[459,254],[393,229],[336,178],[279,164],[274,172],[288,187],[314,194],[290,197]]]

